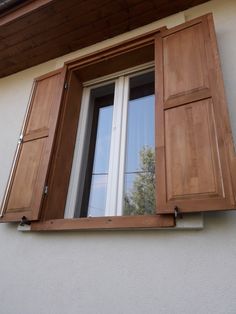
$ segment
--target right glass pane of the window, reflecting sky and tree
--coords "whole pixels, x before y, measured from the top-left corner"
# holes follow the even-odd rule
[[[124,215],[155,212],[154,73],[130,79]]]

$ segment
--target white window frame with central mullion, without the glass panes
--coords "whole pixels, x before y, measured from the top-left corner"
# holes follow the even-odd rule
[[[90,128],[88,119],[91,108],[90,93],[94,88],[114,84],[114,104],[111,132],[111,147],[109,156],[109,175],[107,182],[107,202],[104,216],[122,216],[124,194],[124,170],[128,119],[129,81],[135,76],[155,71],[154,62],[145,63],[124,71],[113,73],[99,79],[84,82],[84,91],[81,101],[81,114],[79,118],[77,139],[75,144],[72,177],[68,189],[68,196],[64,218],[74,218],[76,213],[76,195],[83,193],[84,169],[82,167],[86,144],[86,131]],[[116,131],[114,132],[114,128]],[[155,130],[153,130],[155,131]],[[116,145],[115,143],[119,143]],[[79,179],[78,179],[79,178]],[[79,191],[79,192],[78,192]]]

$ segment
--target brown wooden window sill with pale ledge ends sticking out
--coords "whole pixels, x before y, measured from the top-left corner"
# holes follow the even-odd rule
[[[185,215],[175,221],[173,215],[93,217],[77,219],[53,219],[33,222],[30,226],[18,226],[19,231],[82,231],[82,230],[200,230],[203,229],[201,213]]]

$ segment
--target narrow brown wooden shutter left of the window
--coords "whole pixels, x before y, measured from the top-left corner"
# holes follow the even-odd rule
[[[2,221],[37,220],[59,115],[65,69],[35,80]]]

